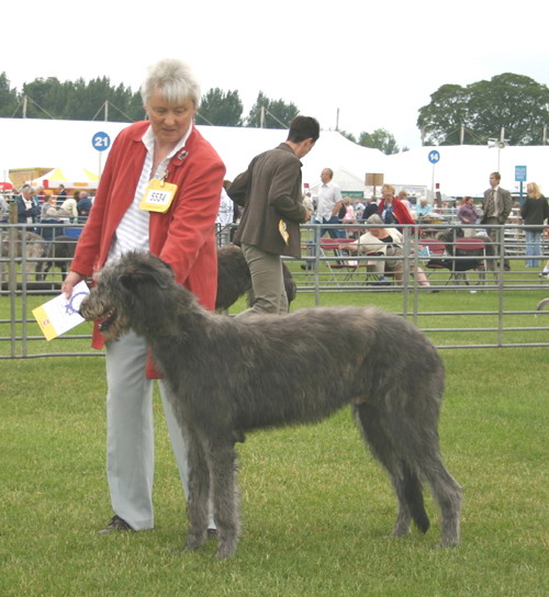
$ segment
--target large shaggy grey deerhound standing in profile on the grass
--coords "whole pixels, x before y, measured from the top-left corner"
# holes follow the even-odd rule
[[[236,441],[254,429],[320,421],[348,404],[393,483],[393,534],[407,533],[412,520],[427,531],[426,482],[441,511],[440,544],[459,542],[461,489],[438,447],[442,363],[401,317],[361,307],[225,317],[199,306],[169,266],[143,252],[105,267],[80,312],[109,339],[130,328],[144,336],[168,382],[188,444],[188,550],[206,540],[210,496],[217,556],[236,550]]]

